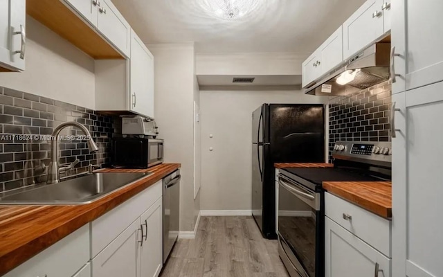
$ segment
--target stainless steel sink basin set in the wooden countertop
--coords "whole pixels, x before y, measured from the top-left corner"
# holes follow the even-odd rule
[[[0,195],[0,205],[89,204],[150,173],[94,173],[57,184],[35,185]]]

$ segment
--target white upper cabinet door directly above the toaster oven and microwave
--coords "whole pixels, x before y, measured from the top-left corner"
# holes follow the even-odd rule
[[[154,118],[154,56],[132,30],[131,35],[130,109]]]

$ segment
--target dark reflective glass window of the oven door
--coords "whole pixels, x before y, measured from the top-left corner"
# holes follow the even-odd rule
[[[291,261],[316,276],[316,210],[284,186],[278,189],[278,233],[298,260]]]

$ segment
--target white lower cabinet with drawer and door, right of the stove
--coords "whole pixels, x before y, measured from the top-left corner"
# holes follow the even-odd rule
[[[391,223],[325,193],[325,277],[390,277]]]

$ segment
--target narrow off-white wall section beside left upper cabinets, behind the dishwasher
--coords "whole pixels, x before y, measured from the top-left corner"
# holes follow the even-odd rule
[[[165,139],[165,162],[181,163],[180,230],[193,231],[199,212],[194,199],[193,44],[150,44],[155,58],[155,118]]]

